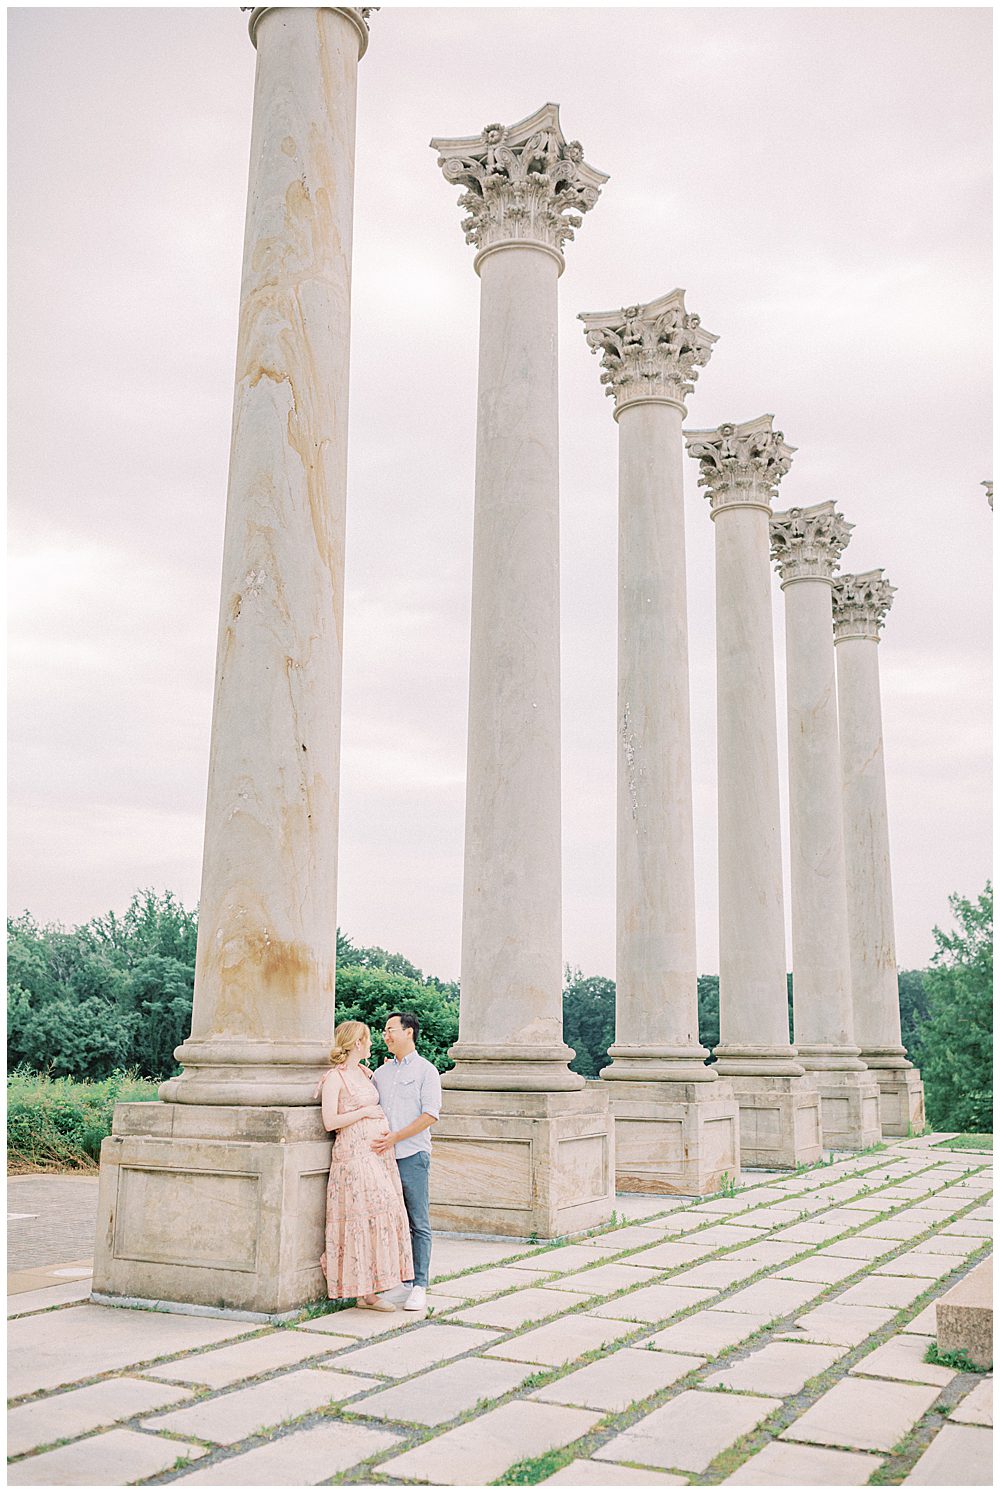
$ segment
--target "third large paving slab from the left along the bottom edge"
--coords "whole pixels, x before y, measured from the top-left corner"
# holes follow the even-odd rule
[[[455,1426],[404,1451],[401,1457],[390,1457],[379,1463],[379,1472],[449,1487],[481,1487],[515,1462],[540,1457],[545,1451],[578,1441],[599,1420],[594,1411],[512,1402]]]

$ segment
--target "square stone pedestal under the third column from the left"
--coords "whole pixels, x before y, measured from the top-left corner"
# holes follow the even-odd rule
[[[715,1193],[740,1175],[739,1106],[728,1079],[604,1079],[619,1193]]]

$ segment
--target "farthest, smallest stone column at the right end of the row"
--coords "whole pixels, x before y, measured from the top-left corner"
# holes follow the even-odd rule
[[[900,1032],[879,691],[879,633],[894,590],[882,570],[837,576],[833,626],[854,1030],[879,1084],[882,1130],[909,1135],[924,1124],[924,1085],[906,1057]]]

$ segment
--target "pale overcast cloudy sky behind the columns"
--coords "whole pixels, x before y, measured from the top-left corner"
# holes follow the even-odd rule
[[[12,911],[197,900],[254,52],[231,9],[15,9]],[[478,281],[433,134],[545,100],[610,173],[561,297],[564,953],[613,973],[616,430],[578,311],[675,285],[690,424],[764,411],[881,645],[899,954],[990,873],[987,9],[407,9],[361,63],[340,924],[458,973]],[[688,482],[700,967],[712,524]],[[782,599],[775,587],[779,712]],[[781,717],[779,717],[781,718]],[[784,724],[781,727],[784,751]]]

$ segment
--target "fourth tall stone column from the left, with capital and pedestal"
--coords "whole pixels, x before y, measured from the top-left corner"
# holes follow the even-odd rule
[[[719,776],[718,1070],[745,1166],[822,1153],[819,1096],[788,1041],[769,521],[794,446],[772,415],[687,433],[715,521]]]

